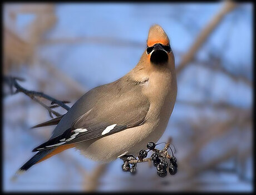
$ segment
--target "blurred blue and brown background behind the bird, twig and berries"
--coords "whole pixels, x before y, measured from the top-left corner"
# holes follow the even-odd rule
[[[150,26],[160,24],[175,55],[178,97],[159,143],[173,139],[179,166],[160,178],[140,163],[132,176],[120,159],[99,164],[69,149],[12,182],[54,126],[30,129],[51,119],[47,109],[5,86],[4,191],[252,191],[252,17],[251,3],[232,2],[4,4],[4,76],[68,106],[129,72]]]

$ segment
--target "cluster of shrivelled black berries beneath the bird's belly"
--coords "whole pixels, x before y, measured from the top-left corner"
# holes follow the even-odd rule
[[[174,175],[178,171],[178,164],[177,159],[174,156],[170,156],[167,152],[167,149],[169,148],[169,145],[167,149],[163,149],[163,151],[160,151],[159,149],[156,149],[156,144],[154,142],[149,142],[147,144],[147,148],[149,151],[153,151],[151,157],[148,159],[144,159],[147,157],[147,153],[149,151],[145,151],[144,149],[141,149],[139,152],[139,159],[136,159],[133,156],[125,156],[121,159],[124,161],[124,164],[122,164],[122,170],[125,172],[130,172],[131,174],[136,173],[136,166],[138,162],[146,162],[146,161],[152,161],[154,167],[156,167],[157,175],[160,177],[166,177],[167,176],[167,168],[169,167],[169,173],[171,175]],[[169,159],[170,163],[168,165],[168,161],[166,159]],[[135,163],[131,163],[131,160],[136,160]],[[130,167],[130,163],[132,166]]]

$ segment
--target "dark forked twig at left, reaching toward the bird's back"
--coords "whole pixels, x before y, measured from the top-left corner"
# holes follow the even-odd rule
[[[66,105],[66,103],[70,103],[68,101],[59,101],[51,96],[48,96],[47,94],[45,93],[42,93],[42,92],[36,92],[36,91],[29,91],[23,87],[21,87],[19,84],[18,84],[18,81],[24,81],[23,78],[17,78],[17,77],[11,77],[11,76],[4,76],[4,83],[7,84],[9,86],[9,89],[10,89],[10,92],[11,94],[16,94],[16,93],[19,93],[19,92],[22,92],[24,94],[26,94],[28,97],[30,97],[31,99],[33,99],[33,101],[41,104],[41,106],[43,106],[44,108],[46,108],[50,114],[50,116],[53,118],[53,115],[54,114],[55,116],[59,117],[61,116],[60,113],[56,112],[53,110],[53,108],[56,108],[56,107],[62,107],[64,109],[66,109],[67,111],[70,109],[70,107],[68,107]],[[15,92],[13,92],[13,88],[16,89]],[[49,101],[51,101],[51,105],[52,106],[47,106],[45,103],[41,102],[38,98],[36,97],[40,97],[40,98],[45,98]]]

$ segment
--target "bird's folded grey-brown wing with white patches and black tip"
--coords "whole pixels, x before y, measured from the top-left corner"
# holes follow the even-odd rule
[[[36,147],[33,152],[100,138],[140,126],[145,122],[150,107],[149,101],[141,92],[140,84],[135,82],[111,83],[103,86],[97,96],[91,98],[96,99],[90,99],[93,106],[86,113],[73,120],[63,133]]]

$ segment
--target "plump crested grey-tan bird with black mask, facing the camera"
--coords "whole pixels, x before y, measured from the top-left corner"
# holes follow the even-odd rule
[[[125,76],[91,89],[63,116],[34,126],[57,125],[17,174],[66,149],[107,163],[137,156],[147,143],[161,138],[176,101],[175,59],[158,24],[150,27],[146,43],[139,62]]]

